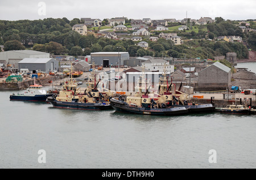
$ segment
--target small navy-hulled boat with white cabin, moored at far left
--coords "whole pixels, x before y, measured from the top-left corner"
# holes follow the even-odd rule
[[[23,93],[11,94],[10,101],[39,101],[46,102],[48,97],[51,97],[53,94],[48,94],[46,89],[42,89],[42,85],[35,83],[31,85],[30,88],[25,90]]]

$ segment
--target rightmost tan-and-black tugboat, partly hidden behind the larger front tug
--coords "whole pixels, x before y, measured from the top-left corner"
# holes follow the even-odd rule
[[[195,104],[195,103],[188,103],[189,98],[188,95],[181,92],[181,86],[178,90],[176,90],[176,85],[172,83],[168,86],[168,77],[166,76],[166,65],[164,66],[164,74],[163,77],[159,78],[159,94],[166,96],[172,95],[172,101],[170,102],[173,107],[185,107],[191,113],[198,113],[198,112],[207,112],[213,111],[214,106],[213,104]]]

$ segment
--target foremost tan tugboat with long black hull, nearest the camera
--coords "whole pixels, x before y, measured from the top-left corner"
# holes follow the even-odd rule
[[[145,89],[145,82],[144,72],[142,72],[142,77],[139,78],[139,87],[136,87],[138,92],[134,96],[128,96],[125,99],[122,96],[110,99],[114,110],[133,114],[167,116],[183,115],[188,112],[185,107],[172,107],[170,103],[171,95],[150,94],[150,86],[145,93],[142,93],[143,89]]]

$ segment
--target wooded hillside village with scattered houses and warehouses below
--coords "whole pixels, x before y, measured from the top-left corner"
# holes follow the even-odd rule
[[[248,58],[256,47],[254,20],[49,18],[36,21],[42,27],[36,25],[32,32],[21,27],[22,23],[34,21],[0,20],[1,68],[11,68],[14,73],[20,69],[64,73],[70,70],[72,60],[75,70],[83,72],[95,64],[96,68],[116,68],[115,72],[129,75],[142,73],[143,66],[145,72],[158,74],[156,77],[167,72],[174,82],[191,85],[194,90],[225,90],[236,82],[233,74],[243,72],[233,66]],[[30,62],[34,65],[23,58],[35,58]],[[36,58],[47,58],[42,62],[48,68],[39,66]],[[217,75],[212,73],[216,70]],[[254,78],[250,74],[249,79]],[[244,88],[254,85],[251,82]]]

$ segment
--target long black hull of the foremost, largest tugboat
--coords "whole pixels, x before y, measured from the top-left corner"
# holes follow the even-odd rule
[[[168,107],[168,108],[145,108],[145,107],[136,107],[130,106],[129,104],[118,101],[117,99],[110,99],[110,104],[115,111],[133,113],[133,114],[146,114],[146,115],[183,115],[188,113],[188,110],[185,107]]]

